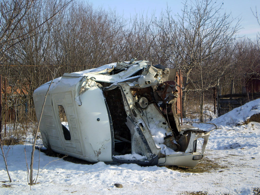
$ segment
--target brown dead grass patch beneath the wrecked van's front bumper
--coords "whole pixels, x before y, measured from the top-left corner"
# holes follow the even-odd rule
[[[196,165],[196,167],[180,167],[180,166],[166,166],[166,167],[174,171],[187,172],[187,173],[204,173],[204,172],[210,172],[211,170],[227,168],[227,166],[219,165],[216,161],[210,160],[206,157],[203,157]]]

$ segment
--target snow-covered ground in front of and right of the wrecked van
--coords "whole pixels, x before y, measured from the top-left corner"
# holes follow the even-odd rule
[[[171,170],[170,167],[142,167],[136,164],[110,165],[98,162],[82,165],[40,152],[40,174],[36,181],[39,183],[31,186],[30,190],[24,149],[30,164],[31,144],[10,148],[4,146],[5,152],[9,151],[7,161],[13,182],[8,182],[1,157],[0,195],[260,194],[260,123],[249,122],[243,125],[250,116],[259,113],[260,99],[211,121],[218,129],[210,135],[204,159],[212,160],[219,168],[209,169],[204,173]],[[205,129],[205,126],[200,128]],[[34,159],[36,177],[38,150],[35,151]],[[115,183],[122,184],[123,188],[116,188]]]

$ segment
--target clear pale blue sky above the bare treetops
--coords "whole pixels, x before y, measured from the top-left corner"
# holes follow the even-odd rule
[[[217,3],[221,4],[224,3],[222,8],[223,12],[226,11],[227,13],[232,14],[233,18],[242,18],[241,19],[241,27],[243,29],[240,30],[238,36],[246,36],[249,38],[256,38],[257,32],[260,32],[260,26],[256,21],[256,18],[253,16],[250,8],[255,10],[257,7],[258,9],[258,16],[260,14],[260,0],[222,0],[218,1]],[[105,9],[116,9],[118,14],[124,14],[125,17],[134,16],[135,14],[144,14],[148,13],[155,13],[155,16],[160,15],[161,11],[165,11],[168,7],[171,8],[174,14],[180,13],[183,7],[181,0],[131,0],[131,1],[124,1],[124,0],[89,0],[88,2],[92,3],[95,8],[103,7]]]

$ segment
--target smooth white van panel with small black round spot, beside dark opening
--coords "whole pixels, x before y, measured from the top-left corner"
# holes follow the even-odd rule
[[[102,90],[89,88],[80,100],[82,105],[76,105],[76,110],[88,160],[112,161],[110,122]]]

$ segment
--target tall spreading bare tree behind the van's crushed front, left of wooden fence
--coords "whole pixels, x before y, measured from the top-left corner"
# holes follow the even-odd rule
[[[184,3],[177,21],[167,11],[167,24],[158,23],[168,37],[169,61],[181,69],[183,79],[183,103],[186,93],[195,90],[200,94],[200,120],[203,121],[204,94],[216,84],[216,78],[228,67],[219,65],[216,57],[232,44],[239,30],[239,19],[234,24],[230,14],[221,14],[222,4],[211,0]],[[191,79],[192,78],[192,79]]]

